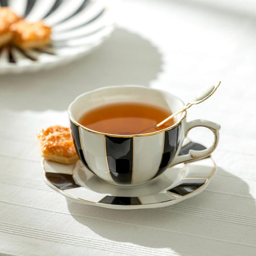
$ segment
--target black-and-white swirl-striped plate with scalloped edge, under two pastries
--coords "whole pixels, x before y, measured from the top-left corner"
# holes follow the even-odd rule
[[[52,43],[38,50],[3,47],[0,73],[21,73],[70,63],[99,46],[114,29],[113,16],[99,0],[0,1],[30,22],[43,19],[52,27]]]

